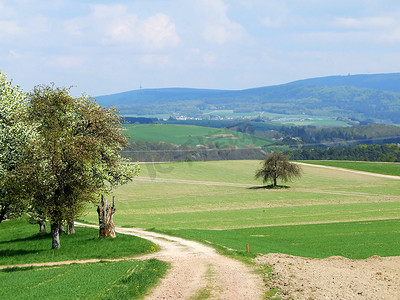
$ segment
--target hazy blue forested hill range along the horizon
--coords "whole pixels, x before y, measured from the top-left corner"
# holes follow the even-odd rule
[[[140,89],[97,97],[125,114],[210,110],[349,117],[400,124],[400,73],[330,76],[246,90]]]

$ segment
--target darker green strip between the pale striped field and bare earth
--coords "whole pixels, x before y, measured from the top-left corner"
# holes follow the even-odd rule
[[[303,257],[343,256],[364,259],[372,255],[400,255],[400,220],[343,222],[242,228],[232,230],[162,230],[163,233],[216,247],[243,261],[259,253]],[[249,244],[247,253],[246,244]]]

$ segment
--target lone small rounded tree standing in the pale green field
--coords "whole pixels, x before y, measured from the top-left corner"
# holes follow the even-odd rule
[[[281,152],[267,156],[262,162],[262,168],[256,171],[256,179],[261,178],[263,183],[271,182],[273,187],[277,187],[278,179],[288,182],[293,178],[300,177],[301,167],[289,162],[288,158]]]

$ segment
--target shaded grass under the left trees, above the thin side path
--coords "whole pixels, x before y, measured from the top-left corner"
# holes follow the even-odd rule
[[[51,249],[51,235],[38,230],[37,225],[23,219],[2,222],[0,265],[133,257],[157,250],[155,244],[135,236],[117,234],[115,239],[99,239],[96,229],[83,227],[77,227],[73,235],[62,235],[61,249]]]

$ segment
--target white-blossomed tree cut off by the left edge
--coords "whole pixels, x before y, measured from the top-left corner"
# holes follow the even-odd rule
[[[0,72],[0,222],[18,216],[29,201],[21,177],[27,156],[26,146],[34,136],[34,128],[27,124],[26,94],[7,81]]]

